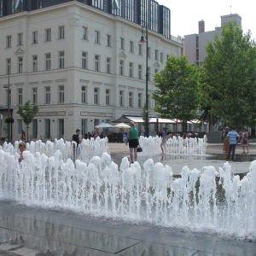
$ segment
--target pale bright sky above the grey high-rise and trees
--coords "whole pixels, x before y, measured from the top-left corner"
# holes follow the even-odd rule
[[[205,31],[220,26],[220,16],[241,16],[243,32],[250,30],[256,38],[255,0],[158,0],[171,9],[171,33],[181,36],[198,33],[198,21],[205,20]],[[231,7],[230,7],[231,6]]]

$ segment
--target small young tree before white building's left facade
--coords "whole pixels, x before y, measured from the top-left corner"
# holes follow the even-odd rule
[[[30,101],[26,102],[24,105],[19,106],[17,113],[23,119],[26,124],[26,140],[28,140],[28,125],[32,122],[32,119],[38,113],[38,105],[31,105]]]

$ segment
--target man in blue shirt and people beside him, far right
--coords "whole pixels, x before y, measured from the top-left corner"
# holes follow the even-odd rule
[[[230,154],[231,154],[231,159],[234,160],[235,158],[235,151],[236,151],[236,145],[237,143],[241,142],[241,147],[242,147],[242,153],[243,154],[248,154],[249,153],[249,148],[248,148],[248,131],[247,129],[243,129],[240,134],[236,131],[235,128],[232,128],[230,130],[229,127],[226,127],[223,131],[223,151],[224,153],[227,153],[226,160],[230,159]],[[247,152],[246,152],[247,150]]]

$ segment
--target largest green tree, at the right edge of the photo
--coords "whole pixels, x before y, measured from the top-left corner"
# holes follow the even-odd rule
[[[255,124],[256,48],[250,32],[230,22],[207,45],[203,63],[201,108],[226,125]]]

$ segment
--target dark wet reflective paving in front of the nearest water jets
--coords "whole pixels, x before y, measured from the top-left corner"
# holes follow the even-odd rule
[[[256,241],[0,202],[0,255],[256,255]]]

